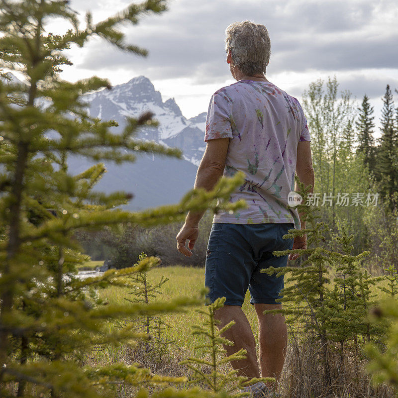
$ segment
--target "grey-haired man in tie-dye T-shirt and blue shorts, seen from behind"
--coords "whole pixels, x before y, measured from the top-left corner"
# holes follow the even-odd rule
[[[282,314],[267,314],[280,308],[276,301],[284,278],[260,273],[261,269],[286,266],[287,256],[276,257],[274,250],[306,248],[306,238],[283,239],[292,228],[305,228],[296,208],[288,205],[295,189],[294,176],[305,185],[314,185],[310,136],[298,100],[265,78],[271,54],[268,31],[251,21],[235,22],[226,30],[226,62],[236,83],[222,87],[211,97],[195,188],[211,190],[222,175],[245,174],[244,184],[230,201],[245,199],[247,208],[234,214],[214,215],[209,236],[205,286],[213,302],[225,297],[216,316],[233,341],[227,354],[243,348],[246,359],[231,363],[239,375],[279,379],[285,361],[287,328]],[[191,256],[199,233],[201,213],[188,213],[177,235],[177,248]],[[188,246],[186,242],[189,241]],[[298,255],[290,255],[294,260]],[[247,289],[259,324],[259,360],[253,331],[242,311]],[[248,388],[252,395],[275,392],[277,384],[257,383]]]

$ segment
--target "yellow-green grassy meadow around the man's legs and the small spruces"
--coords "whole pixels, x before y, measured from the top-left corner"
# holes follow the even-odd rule
[[[90,266],[90,264],[89,264]],[[334,272],[329,270],[330,277],[333,279]],[[158,297],[160,301],[168,301],[176,297],[198,297],[199,292],[204,286],[204,267],[186,267],[186,266],[169,266],[169,267],[155,267],[148,271],[147,281],[148,283],[156,283],[164,276],[168,278],[168,281],[162,285],[162,294]],[[285,276],[285,280],[288,275]],[[285,287],[288,285],[285,284]],[[386,281],[381,281],[380,286],[386,286]],[[380,292],[379,289],[372,286],[371,291],[373,294],[377,295],[377,298],[384,298],[385,294]],[[99,290],[98,295],[101,299],[105,300],[109,304],[123,304],[125,299],[131,298],[131,288],[123,287],[107,287],[105,289]],[[254,332],[257,348],[258,348],[258,329],[257,329],[257,318],[254,311],[254,307],[249,303],[250,294],[246,293],[245,302],[242,306],[243,311],[247,315],[247,318],[252,326]],[[204,300],[203,300],[204,302]],[[124,302],[125,303],[125,302]],[[122,361],[124,363],[138,362],[143,366],[151,369],[157,374],[164,376],[190,376],[190,372],[184,366],[179,365],[179,362],[188,358],[196,357],[200,358],[202,352],[196,349],[195,346],[199,343],[204,343],[202,336],[192,335],[192,326],[194,324],[200,324],[203,321],[203,315],[199,314],[196,309],[200,306],[192,306],[190,309],[184,312],[173,312],[162,315],[162,319],[165,322],[165,328],[162,332],[164,341],[170,342],[167,344],[166,353],[162,358],[155,358],[148,352],[145,352],[143,345],[138,345],[136,347],[128,347],[128,345],[120,345],[118,348],[107,347],[103,348],[98,352],[93,352],[92,359],[95,359],[96,363],[109,363]],[[109,328],[117,328],[119,324],[109,323]],[[279,391],[282,393],[282,397],[296,397],[294,391],[292,391],[292,373],[298,371],[297,363],[295,362],[294,354],[295,336],[289,332],[289,343],[286,356],[286,362],[284,371],[280,380]],[[302,356],[311,356],[311,347],[308,347],[307,353],[301,352]],[[314,354],[315,355],[315,354]],[[311,360],[311,358],[308,358]],[[347,364],[350,369],[347,370],[348,373],[352,374],[355,369],[357,372],[356,382],[357,382],[357,392],[358,396],[362,395],[363,389],[368,388],[370,394],[369,397],[390,397],[390,392],[385,389],[385,386],[372,390],[370,388],[368,377],[366,372],[364,372],[363,364],[354,364],[354,361],[348,359]],[[310,367],[308,366],[308,369]],[[227,365],[224,369],[225,371],[231,370],[230,366]],[[293,372],[292,372],[293,370]],[[296,376],[295,376],[296,377]],[[305,377],[305,376],[303,376]],[[290,386],[290,387],[289,387]],[[368,386],[368,387],[366,387]],[[177,389],[186,388],[187,385],[174,385]],[[206,389],[203,385],[201,388]],[[337,387],[336,387],[337,389]],[[155,388],[156,390],[156,388]],[[122,387],[118,391],[118,396],[123,398],[128,398],[134,396],[137,393],[137,389],[132,387]],[[361,394],[359,394],[361,393]],[[352,396],[352,390],[347,390],[347,397]]]

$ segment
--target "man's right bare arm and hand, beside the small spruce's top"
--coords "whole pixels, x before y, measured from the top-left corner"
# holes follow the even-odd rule
[[[315,183],[314,169],[312,167],[312,157],[311,157],[311,146],[310,141],[299,141],[297,146],[297,162],[296,162],[296,174],[298,179],[304,184],[304,186],[311,185],[311,193],[313,192],[313,187]],[[298,187],[295,184],[295,191]],[[302,215],[298,214],[300,217],[301,229],[305,229],[305,222],[302,221]],[[302,237],[295,238],[293,242],[293,249],[306,249],[307,248],[307,237],[306,235]],[[296,260],[299,257],[298,254],[290,254],[289,260]]]

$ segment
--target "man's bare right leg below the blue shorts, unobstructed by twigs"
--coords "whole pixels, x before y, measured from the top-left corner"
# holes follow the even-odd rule
[[[282,314],[263,314],[266,309],[279,309],[281,304],[254,304],[259,325],[260,368],[262,377],[279,380],[285,363],[288,330]],[[277,383],[267,383],[276,390]]]

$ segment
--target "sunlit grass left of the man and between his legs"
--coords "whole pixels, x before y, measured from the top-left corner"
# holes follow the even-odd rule
[[[93,263],[97,262],[89,262],[80,269],[93,268]],[[177,297],[194,298],[199,296],[202,297],[202,302],[204,303],[204,296],[201,295],[201,291],[204,287],[204,267],[186,267],[180,265],[155,267],[147,273],[148,284],[158,282],[162,276],[167,278],[168,281],[160,288],[162,294],[159,295],[157,299],[151,300],[152,302],[156,300],[164,302]],[[98,290],[98,296],[108,304],[121,305],[126,303],[126,299],[131,298],[131,289],[109,286],[105,289]],[[249,300],[250,294],[247,292],[242,308],[252,325],[257,340],[258,330],[256,314]],[[145,343],[141,342],[135,347],[129,346],[128,344],[120,344],[118,347],[103,347],[99,351],[93,351],[89,362],[92,365],[105,365],[114,362],[123,362],[126,364],[140,363],[146,368],[151,369],[154,373],[162,376],[190,377],[192,372],[185,366],[179,365],[179,362],[188,357],[201,358],[203,356],[202,351],[195,346],[204,343],[204,338],[202,336],[194,337],[192,335],[192,326],[202,323],[203,315],[196,311],[201,306],[203,306],[203,304],[200,306],[192,306],[183,312],[172,312],[162,315],[162,320],[165,322],[165,327],[162,331],[162,339],[168,343],[166,344],[166,352],[161,357],[145,352]],[[133,320],[133,322],[134,321],[137,321],[137,319]],[[127,320],[126,323],[128,322]],[[122,322],[122,324],[125,323]],[[119,326],[120,323],[118,321],[108,323],[108,327],[111,330],[117,329]],[[145,330],[139,330],[145,332]],[[231,369],[229,365],[222,368],[225,372]],[[186,383],[171,385],[178,390],[189,388],[189,385]],[[204,384],[200,384],[200,388],[204,390],[208,389]],[[158,390],[156,387],[149,388],[151,393],[156,390]],[[129,398],[134,397],[137,392],[138,389],[135,387],[121,386],[117,394],[120,398]]]

